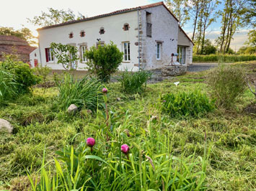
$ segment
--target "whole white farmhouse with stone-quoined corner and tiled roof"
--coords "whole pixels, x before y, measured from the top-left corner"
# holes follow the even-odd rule
[[[63,70],[51,53],[51,42],[79,48],[81,60],[72,64],[77,70],[85,70],[85,50],[110,41],[124,52],[120,70],[150,70],[169,65],[172,53],[179,54],[173,57],[174,61],[178,59],[183,65],[192,63],[193,42],[163,2],[64,22],[37,29],[37,32],[39,47],[30,53],[32,66],[40,62],[53,70]]]

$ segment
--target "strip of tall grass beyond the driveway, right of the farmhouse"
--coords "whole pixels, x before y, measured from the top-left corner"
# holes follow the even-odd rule
[[[193,55],[193,62],[243,62],[256,60],[256,55]]]

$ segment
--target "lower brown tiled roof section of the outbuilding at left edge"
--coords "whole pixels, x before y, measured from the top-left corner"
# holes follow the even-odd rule
[[[35,49],[36,47],[30,47],[29,45],[0,45],[0,55],[2,54],[2,52],[7,54],[15,53],[17,55],[29,55],[30,52],[32,52]]]

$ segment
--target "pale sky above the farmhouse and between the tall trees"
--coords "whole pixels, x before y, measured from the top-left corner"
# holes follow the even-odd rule
[[[0,0],[0,26],[14,27],[20,29],[23,26],[32,30],[37,36],[35,29],[37,27],[27,23],[27,18],[32,19],[41,14],[41,11],[48,11],[48,8],[53,9],[71,9],[74,13],[80,12],[86,17],[92,17],[98,14],[105,14],[118,9],[131,8],[158,2],[158,0]],[[220,5],[221,6],[221,5]],[[183,29],[191,37],[193,32],[192,21],[187,22]],[[220,34],[221,19],[212,24],[208,28],[206,37],[216,39]],[[248,29],[241,29],[237,34],[234,34],[234,40],[231,42],[231,48],[238,50],[247,40]]]

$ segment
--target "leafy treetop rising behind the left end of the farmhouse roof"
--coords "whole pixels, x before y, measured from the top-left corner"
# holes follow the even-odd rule
[[[78,15],[76,16],[76,14],[74,14],[74,11],[72,11],[71,9],[65,11],[63,9],[58,10],[48,8],[48,11],[48,13],[42,11],[42,14],[40,16],[35,16],[33,19],[27,18],[27,21],[38,27],[47,27],[53,24],[60,24],[63,22],[69,22],[84,18],[81,13],[78,13]]]

